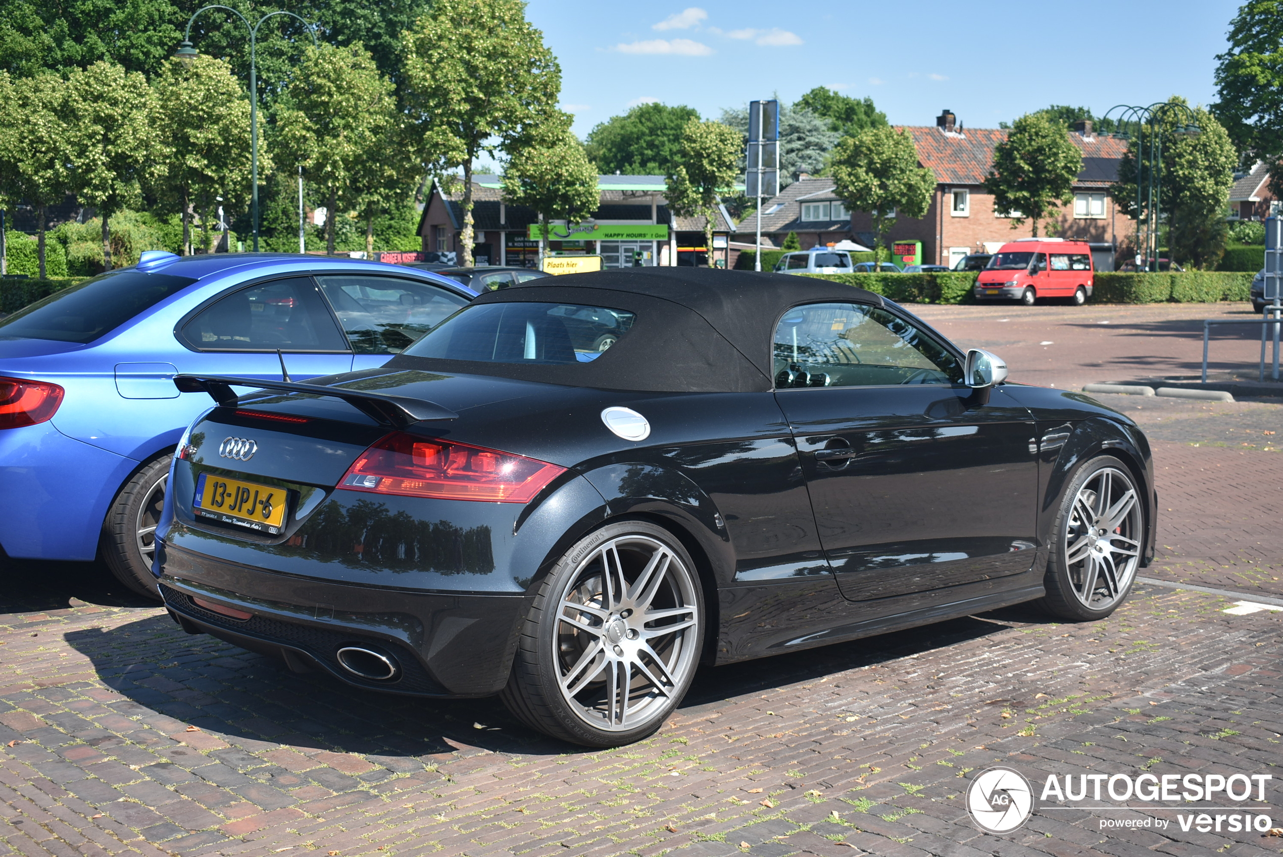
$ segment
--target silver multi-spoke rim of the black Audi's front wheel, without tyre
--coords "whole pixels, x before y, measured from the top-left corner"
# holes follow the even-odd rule
[[[1089,610],[1114,607],[1141,561],[1141,498],[1132,477],[1103,468],[1074,497],[1065,532],[1065,567],[1074,597]]]

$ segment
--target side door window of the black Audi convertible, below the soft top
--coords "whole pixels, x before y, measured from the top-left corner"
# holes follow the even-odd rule
[[[775,387],[956,384],[962,365],[934,338],[887,310],[811,304],[775,329]]]

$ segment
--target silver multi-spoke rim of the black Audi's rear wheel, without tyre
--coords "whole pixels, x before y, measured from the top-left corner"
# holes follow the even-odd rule
[[[642,534],[611,539],[575,569],[557,605],[557,684],[594,729],[662,716],[695,669],[699,611],[681,559]]]

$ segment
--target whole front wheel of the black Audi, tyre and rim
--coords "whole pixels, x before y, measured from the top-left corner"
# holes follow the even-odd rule
[[[1070,621],[1105,619],[1126,601],[1144,552],[1144,502],[1132,471],[1110,455],[1084,462],[1052,526],[1043,606]]]

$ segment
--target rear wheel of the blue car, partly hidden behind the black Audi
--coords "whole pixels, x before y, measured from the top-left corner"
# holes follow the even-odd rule
[[[99,553],[115,579],[131,592],[155,601],[160,601],[160,593],[151,574],[149,547],[155,544],[171,457],[163,455],[148,461],[124,483],[106,510],[99,538]]]

